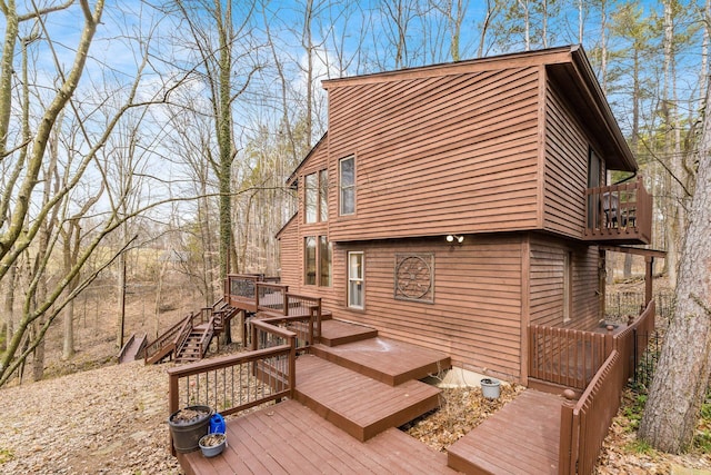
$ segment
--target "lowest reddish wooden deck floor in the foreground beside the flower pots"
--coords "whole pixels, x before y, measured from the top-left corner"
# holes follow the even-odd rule
[[[197,474],[455,474],[447,456],[391,428],[361,443],[294,400],[227,422],[228,447],[213,458],[178,454]]]

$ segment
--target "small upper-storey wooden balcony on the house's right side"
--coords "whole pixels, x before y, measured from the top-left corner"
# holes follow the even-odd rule
[[[629,184],[585,190],[583,239],[608,244],[649,244],[652,238],[652,197],[641,178]]]

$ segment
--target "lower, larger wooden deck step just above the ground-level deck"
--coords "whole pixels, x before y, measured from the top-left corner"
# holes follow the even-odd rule
[[[297,359],[297,400],[367,441],[439,407],[440,390],[409,380],[390,386],[313,355]]]

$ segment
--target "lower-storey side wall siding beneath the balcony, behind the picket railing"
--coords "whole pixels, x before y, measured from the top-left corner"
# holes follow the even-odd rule
[[[572,253],[572,315],[563,324],[563,261]],[[531,239],[530,316],[538,325],[593,329],[598,324],[598,247],[554,238]]]

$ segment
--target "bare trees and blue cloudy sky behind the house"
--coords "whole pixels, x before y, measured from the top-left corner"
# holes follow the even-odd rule
[[[0,385],[28,358],[42,377],[52,326],[72,357],[92,283],[121,320],[127,289],[167,273],[189,279],[196,307],[228,263],[278,275],[273,236],[296,210],[284,182],[326,131],[320,82],[338,77],[583,44],[654,197],[673,286],[711,0],[0,7]]]

